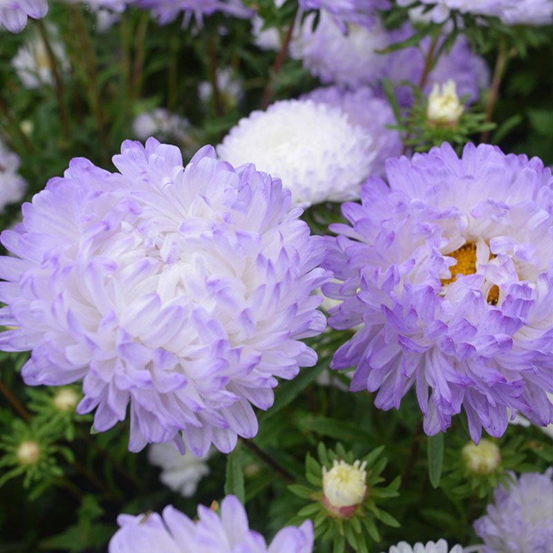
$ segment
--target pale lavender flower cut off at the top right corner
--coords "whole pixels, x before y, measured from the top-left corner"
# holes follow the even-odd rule
[[[507,25],[549,25],[553,22],[553,0],[420,0],[434,5],[429,15],[434,23],[445,21],[451,10],[474,15],[499,17]],[[414,0],[397,0],[411,6]]]

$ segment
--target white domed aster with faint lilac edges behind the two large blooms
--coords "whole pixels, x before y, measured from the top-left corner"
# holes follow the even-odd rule
[[[373,142],[339,107],[282,100],[241,119],[217,153],[233,165],[250,161],[281,178],[292,202],[308,207],[359,198],[376,156]]]

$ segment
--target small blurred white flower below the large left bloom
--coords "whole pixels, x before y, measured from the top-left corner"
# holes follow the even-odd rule
[[[193,496],[200,480],[209,474],[207,460],[211,456],[212,450],[203,457],[181,455],[170,442],[151,444],[148,448],[149,462],[161,467],[161,482],[185,497]]]

